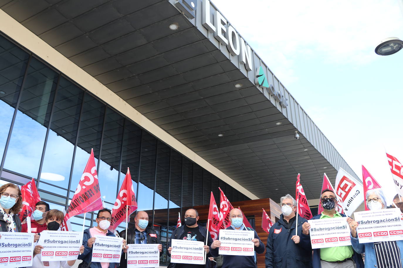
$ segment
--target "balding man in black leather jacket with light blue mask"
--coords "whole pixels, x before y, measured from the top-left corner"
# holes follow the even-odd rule
[[[158,250],[162,252],[162,244],[158,239],[157,232],[148,227],[148,214],[145,211],[137,211],[134,218],[135,226],[127,229],[128,244],[158,244]],[[119,233],[120,237],[126,237],[126,230]],[[120,258],[120,268],[127,267],[125,256]]]

